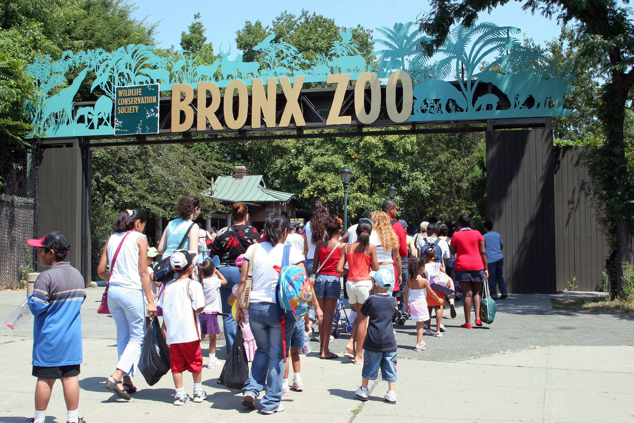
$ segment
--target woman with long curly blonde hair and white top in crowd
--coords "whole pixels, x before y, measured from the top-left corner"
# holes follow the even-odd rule
[[[399,283],[403,282],[398,237],[394,233],[392,225],[390,225],[390,218],[385,212],[375,211],[370,219],[372,219],[370,244],[377,247],[378,267],[390,271],[398,286]]]

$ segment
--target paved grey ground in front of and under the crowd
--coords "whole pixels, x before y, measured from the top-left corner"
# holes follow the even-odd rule
[[[80,415],[96,422],[254,421],[299,422],[634,422],[634,321],[631,316],[582,315],[549,310],[547,296],[510,297],[500,303],[490,329],[461,330],[448,321],[442,338],[426,337],[427,351],[409,348],[413,335],[397,327],[399,361],[396,405],[382,400],[387,384],[372,384],[371,400],[354,400],[361,369],[344,358],[302,356],[306,389],[284,397],[287,410],[272,416],[248,412],[236,390],[216,384],[221,369],[203,371],[205,403],[172,405],[174,388],[166,375],[119,400],[103,389],[116,364],[112,318],[96,315],[101,289],[84,303],[84,365]],[[0,292],[6,316],[24,292]],[[461,310],[455,326],[460,322]],[[461,322],[460,322],[461,323]],[[343,343],[335,341],[335,346]],[[541,348],[531,348],[535,346]],[[629,345],[629,346],[628,346]],[[0,330],[0,422],[32,417],[35,379],[30,375],[30,329]],[[317,347],[313,343],[313,348]],[[337,350],[338,348],[334,348]],[[339,350],[342,350],[340,348]],[[506,351],[510,352],[506,353]],[[500,351],[505,353],[499,354]],[[497,354],[497,355],[493,355]],[[415,357],[406,358],[406,357]],[[475,358],[470,358],[475,357]],[[222,358],[222,356],[221,356]],[[455,361],[460,360],[460,361]],[[191,391],[193,382],[185,379]],[[191,394],[191,392],[190,392]],[[65,422],[57,384],[48,422]],[[247,417],[248,415],[248,417]]]

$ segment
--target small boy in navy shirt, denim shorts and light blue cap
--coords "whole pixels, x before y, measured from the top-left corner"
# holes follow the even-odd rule
[[[371,271],[374,282],[372,294],[361,306],[361,313],[368,316],[368,332],[363,342],[363,370],[361,387],[356,397],[368,400],[368,381],[378,379],[378,369],[387,382],[385,401],[396,404],[396,337],[392,329],[392,315],[396,307],[396,298],[391,296],[394,287],[394,275],[387,270]]]

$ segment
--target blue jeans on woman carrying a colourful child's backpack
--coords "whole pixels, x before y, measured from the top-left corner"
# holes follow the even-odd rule
[[[295,322],[287,319],[280,322],[277,304],[251,303],[249,326],[256,339],[257,349],[249,380],[244,384],[242,393],[251,393],[257,398],[261,391],[266,391],[260,401],[262,410],[275,410],[280,407],[281,382]]]

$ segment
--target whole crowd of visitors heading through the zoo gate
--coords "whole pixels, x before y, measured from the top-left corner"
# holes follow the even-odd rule
[[[206,231],[195,223],[200,206],[196,197],[180,197],[175,205],[179,217],[165,227],[157,247],[148,246],[143,235],[145,214],[139,209],[122,211],[103,247],[97,273],[108,282],[102,306],[107,306],[117,327],[118,358],[105,389],[120,398],[130,400],[137,391],[132,378],[138,370],[146,322],[162,316],[176,390],[174,405],[207,398],[202,390],[201,342],[209,339],[207,367],[222,367],[216,357],[217,337],[224,333],[229,353],[240,327],[251,361],[242,405],[254,408],[264,392],[261,413],[281,412],[281,398],[291,390],[304,389],[300,351],[306,352],[307,339],[319,337],[321,359],[339,358],[330,351],[330,341],[343,291],[353,309],[352,333],[343,355],[363,366],[356,398],[368,400],[368,381],[376,380],[381,370],[382,380],[388,382],[384,399],[393,404],[397,380],[394,316],[415,322],[413,349],[425,351],[424,336],[443,336],[443,309],[449,306],[455,318],[455,302],[461,298],[465,323],[460,327],[472,328],[472,305],[474,324],[482,325],[480,290],[487,278],[494,298],[498,284],[501,298],[508,296],[502,277],[503,241],[491,221],[484,223],[484,236],[471,228],[465,215],[458,217],[453,233],[451,223],[436,218],[420,226],[408,225],[396,219],[398,205],[388,199],[381,210],[363,212],[358,223],[343,228],[341,219],[317,200],[304,228],[271,214],[259,233],[249,225],[247,205],[235,203],[233,225]],[[76,407],[82,361],[79,311],[86,297],[82,278],[63,261],[70,245],[62,233],[49,233],[29,244],[39,247],[41,263],[51,266],[37,278],[29,303],[36,315],[33,375],[38,377],[32,421],[44,422],[55,379],[61,379],[65,395],[68,391],[72,398],[67,398],[68,422],[83,421]],[[279,269],[285,265],[297,266],[311,281],[313,301],[299,321],[280,312],[276,290]],[[436,330],[432,330],[432,312]],[[223,332],[218,316],[223,318]],[[70,337],[60,339],[61,330]],[[51,348],[56,342],[65,342],[67,348],[56,355],[38,348],[40,344]],[[294,374],[289,382],[291,367]],[[183,387],[186,371],[193,375],[191,397]]]

